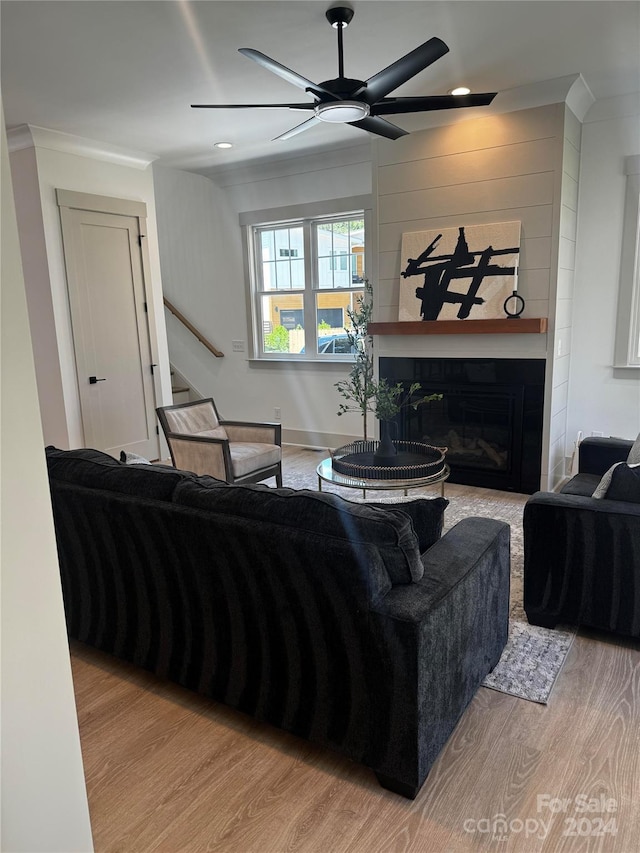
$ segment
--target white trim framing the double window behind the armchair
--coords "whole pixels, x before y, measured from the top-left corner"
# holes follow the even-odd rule
[[[367,239],[365,243],[365,270],[371,269],[371,233],[372,233],[372,205],[373,199],[370,195],[351,196],[349,198],[330,199],[320,202],[307,202],[299,205],[289,205],[286,207],[267,208],[265,210],[254,210],[241,213],[239,220],[242,231],[243,254],[245,263],[245,289],[246,289],[246,304],[247,304],[247,325],[250,331],[249,335],[249,360],[272,364],[278,362],[301,362],[305,364],[335,364],[344,361],[350,361],[351,356],[345,355],[319,355],[313,352],[297,355],[292,353],[268,353],[261,351],[261,338],[259,324],[257,318],[259,312],[256,305],[257,292],[254,287],[254,271],[255,271],[255,244],[253,239],[253,230],[256,226],[270,225],[278,222],[298,222],[307,219],[322,219],[339,218],[341,216],[349,216],[354,211],[363,211],[365,220],[365,230]],[[311,263],[312,253],[305,253],[305,265]],[[307,280],[310,275],[310,270],[306,270]],[[307,302],[305,302],[307,306]],[[309,308],[310,310],[310,308]],[[307,318],[305,318],[307,319]],[[315,318],[308,318],[308,321],[313,324]],[[305,347],[306,349],[306,347]]]

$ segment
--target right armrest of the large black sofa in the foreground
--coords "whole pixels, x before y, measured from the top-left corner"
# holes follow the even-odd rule
[[[421,581],[375,604],[380,690],[372,709],[373,769],[382,785],[413,797],[505,646],[510,529],[468,518],[422,560]]]

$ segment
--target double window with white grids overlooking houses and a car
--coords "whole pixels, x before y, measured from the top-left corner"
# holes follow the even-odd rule
[[[256,357],[350,356],[344,326],[363,295],[366,218],[354,210],[248,225]]]

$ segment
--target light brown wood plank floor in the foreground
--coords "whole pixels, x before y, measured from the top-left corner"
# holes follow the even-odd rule
[[[640,850],[640,645],[580,632],[547,706],[480,688],[415,801],[72,643],[97,853]]]

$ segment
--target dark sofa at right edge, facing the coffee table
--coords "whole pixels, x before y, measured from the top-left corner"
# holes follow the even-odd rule
[[[524,509],[524,609],[548,628],[584,625],[640,638],[640,503],[594,498],[634,442],[586,438],[579,470],[560,493],[537,492]]]

